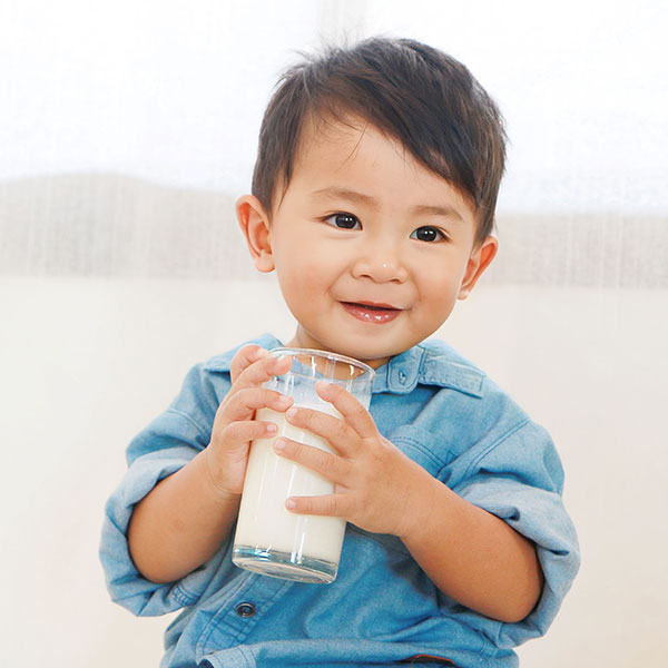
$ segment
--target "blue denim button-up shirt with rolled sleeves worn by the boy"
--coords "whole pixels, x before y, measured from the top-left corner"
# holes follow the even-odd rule
[[[268,334],[250,343],[282,345]],[[503,623],[464,608],[432,583],[400,539],[351,523],[331,584],[238,569],[234,532],[179,581],[141,577],[128,553],[132,508],[208,444],[236,350],[190,370],[168,410],[130,443],[128,472],[106,507],[100,557],[112,600],[140,616],[183,609],[166,631],[160,666],[517,666],[512,648],[547,631],[579,567],[563,471],[548,433],[438,341],[376,370],[370,411],[379,431],[434,478],[536,543],[546,582],[524,620]]]

